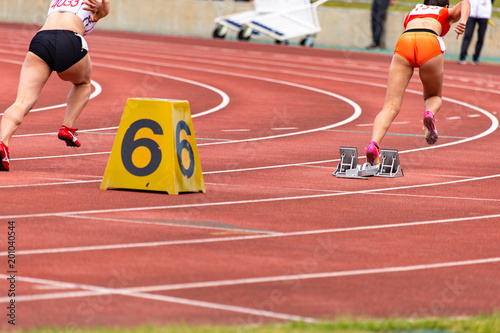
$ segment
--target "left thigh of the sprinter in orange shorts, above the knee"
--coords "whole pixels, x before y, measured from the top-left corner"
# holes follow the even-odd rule
[[[387,80],[385,104],[390,103],[398,109],[401,107],[406,87],[412,75],[413,66],[410,65],[408,60],[399,54],[394,54],[389,69],[389,79]]]

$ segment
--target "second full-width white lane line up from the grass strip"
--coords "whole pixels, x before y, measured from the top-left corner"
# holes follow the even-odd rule
[[[71,215],[65,215],[65,217],[66,216],[71,216]],[[332,234],[332,233],[353,232],[353,231],[368,231],[368,230],[391,229],[391,228],[408,228],[408,227],[418,227],[418,226],[425,226],[425,225],[459,223],[459,222],[464,222],[464,221],[480,221],[481,222],[481,220],[490,220],[490,219],[497,219],[497,218],[500,218],[500,214],[472,216],[472,217],[469,217],[469,216],[468,217],[457,217],[457,218],[442,219],[442,220],[417,221],[417,222],[405,222],[405,223],[381,224],[381,225],[368,225],[368,226],[347,227],[347,228],[306,230],[306,231],[295,231],[295,232],[287,232],[287,233],[254,234],[254,235],[243,235],[243,236],[233,236],[233,237],[214,237],[214,238],[161,241],[161,242],[159,241],[159,242],[141,242],[141,243],[111,244],[111,245],[75,246],[75,247],[39,249],[39,250],[20,250],[20,251],[16,251],[16,255],[40,255],[40,254],[46,255],[46,254],[59,254],[59,253],[69,253],[69,252],[122,250],[122,249],[132,249],[132,248],[148,248],[148,247],[161,247],[161,246],[174,246],[174,245],[187,245],[187,244],[208,244],[208,243],[235,242],[235,241],[241,242],[241,241],[246,241],[246,240],[260,240],[260,239],[267,239],[267,238],[300,237],[300,236],[311,236],[311,235]],[[95,217],[95,219],[100,219],[100,217]],[[7,251],[0,252],[0,257],[6,257],[7,255],[8,255]]]

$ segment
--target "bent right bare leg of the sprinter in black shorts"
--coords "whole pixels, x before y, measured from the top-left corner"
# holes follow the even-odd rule
[[[67,99],[68,106],[64,115],[64,126],[72,128],[73,123],[87,105],[91,93],[91,74],[92,63],[88,54],[69,69],[58,73],[62,80],[73,83],[73,89],[71,89]]]

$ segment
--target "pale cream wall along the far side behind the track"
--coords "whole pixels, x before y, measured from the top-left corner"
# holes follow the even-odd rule
[[[264,0],[272,1],[272,0]],[[105,20],[99,22],[98,30],[131,31],[139,33],[163,34],[169,36],[189,36],[212,38],[214,19],[232,13],[241,13],[254,9],[254,2],[249,1],[207,1],[207,0],[120,0],[113,3],[113,8]],[[34,31],[39,29],[47,16],[49,4],[46,0],[0,0],[0,22],[21,23],[16,27],[15,38],[21,43],[24,52],[26,40],[30,40]],[[321,32],[314,39],[315,45],[326,48],[364,49],[371,41],[370,11],[366,9],[319,6],[317,8]],[[387,13],[385,48],[392,53],[396,42],[403,32],[406,11]],[[481,52],[484,62],[497,62],[500,54],[500,18],[492,21],[497,28],[490,27]],[[458,59],[462,39],[455,39],[449,33],[445,37],[445,57]],[[253,35],[256,41],[268,42],[268,35]],[[92,36],[90,37],[92,38]],[[476,36],[473,36],[472,44]],[[295,42],[295,40],[290,40]]]

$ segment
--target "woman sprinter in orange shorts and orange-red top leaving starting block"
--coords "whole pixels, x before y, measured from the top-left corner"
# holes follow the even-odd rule
[[[419,76],[424,90],[425,139],[428,144],[434,144],[438,139],[434,115],[442,104],[442,37],[455,22],[458,22],[455,26],[457,38],[463,34],[470,13],[469,0],[459,2],[452,9],[448,9],[448,5],[448,0],[425,0],[424,4],[418,4],[405,18],[405,31],[396,44],[389,69],[384,107],[375,118],[372,141],[366,148],[367,162],[372,165],[380,163],[380,141],[401,110],[403,95],[415,67],[420,69]]]

